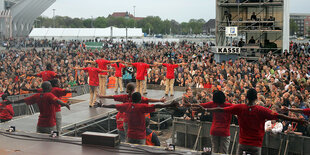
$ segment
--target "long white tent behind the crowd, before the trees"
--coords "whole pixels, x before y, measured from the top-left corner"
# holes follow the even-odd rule
[[[34,39],[87,40],[107,38],[142,38],[142,28],[34,28],[29,34]]]

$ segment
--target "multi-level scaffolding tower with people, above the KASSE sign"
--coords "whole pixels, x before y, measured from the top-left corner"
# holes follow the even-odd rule
[[[228,27],[237,27],[236,37],[227,36]],[[231,43],[246,50],[288,49],[288,0],[216,0],[216,45]]]

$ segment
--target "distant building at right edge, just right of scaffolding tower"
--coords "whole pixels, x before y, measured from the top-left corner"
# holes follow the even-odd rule
[[[297,25],[296,30],[291,31],[291,35],[310,36],[310,13],[291,13],[290,20]]]

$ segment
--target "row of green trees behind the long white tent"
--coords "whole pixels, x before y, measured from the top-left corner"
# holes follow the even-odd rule
[[[35,27],[56,28],[106,28],[115,26],[118,28],[142,28],[147,34],[201,34],[204,19],[191,19],[188,22],[179,23],[175,20],[162,20],[158,16],[148,16],[141,20],[125,17],[97,17],[97,18],[71,18],[68,16],[55,16],[55,19],[40,16],[35,20]]]

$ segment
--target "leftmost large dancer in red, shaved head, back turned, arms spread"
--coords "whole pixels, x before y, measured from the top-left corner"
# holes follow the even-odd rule
[[[56,110],[55,105],[59,104],[61,106],[66,106],[70,110],[70,105],[59,100],[55,95],[51,93],[52,85],[50,82],[45,81],[42,83],[42,93],[34,94],[18,101],[8,101],[6,104],[12,103],[26,103],[37,104],[40,109],[40,115],[37,125],[38,133],[48,133],[56,130]]]

